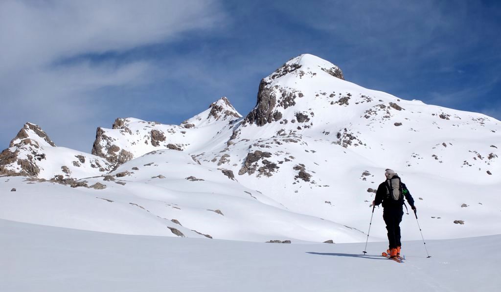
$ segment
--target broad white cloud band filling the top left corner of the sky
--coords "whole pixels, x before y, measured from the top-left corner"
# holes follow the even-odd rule
[[[4,1],[0,4],[2,71],[79,54],[125,51],[213,27],[214,1]]]

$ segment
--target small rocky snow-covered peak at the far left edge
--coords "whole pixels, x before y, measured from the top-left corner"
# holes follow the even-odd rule
[[[0,153],[0,174],[21,174],[64,181],[101,175],[111,170],[101,157],[57,147],[37,125],[26,123]]]

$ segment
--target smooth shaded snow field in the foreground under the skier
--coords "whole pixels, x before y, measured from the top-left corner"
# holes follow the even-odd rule
[[[100,233],[0,220],[0,286],[24,291],[497,291],[501,235],[273,244]],[[488,256],[479,256],[488,251]]]

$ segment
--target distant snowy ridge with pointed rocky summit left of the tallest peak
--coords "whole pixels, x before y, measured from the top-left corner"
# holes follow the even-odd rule
[[[190,151],[205,146],[240,117],[228,99],[222,97],[180,126],[119,118],[112,129],[97,129],[92,154],[120,165],[158,149]]]

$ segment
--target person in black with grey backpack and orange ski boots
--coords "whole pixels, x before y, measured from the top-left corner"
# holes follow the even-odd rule
[[[383,219],[386,223],[386,230],[388,230],[388,253],[391,257],[396,257],[400,255],[402,245],[400,242],[400,222],[404,214],[402,207],[404,197],[413,210],[416,210],[416,206],[414,206],[414,199],[407,186],[401,182],[395,171],[386,169],[385,176],[386,180],[377,188],[376,197],[372,204],[378,206],[382,203]]]

